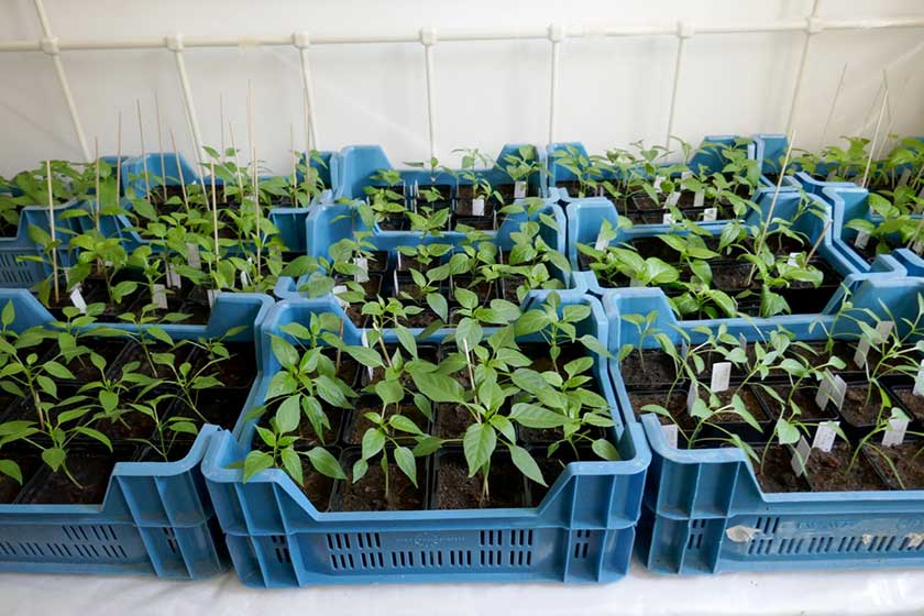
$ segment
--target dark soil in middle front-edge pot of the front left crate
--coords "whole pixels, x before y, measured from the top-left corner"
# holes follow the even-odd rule
[[[116,454],[107,455],[70,452],[66,464],[77,483],[70,481],[63,470],[53,473],[51,469],[45,468],[22,494],[20,503],[33,505],[102,503],[116,462],[130,460],[133,455],[133,450],[117,450]]]

